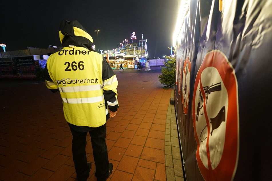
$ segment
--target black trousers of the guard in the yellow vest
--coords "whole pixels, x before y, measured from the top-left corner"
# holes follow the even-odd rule
[[[70,127],[73,135],[72,153],[78,180],[87,180],[89,168],[86,157],[86,136],[87,132],[78,132]],[[109,159],[106,145],[106,124],[89,131],[92,141],[94,162],[96,165],[95,176],[103,178],[108,176]]]

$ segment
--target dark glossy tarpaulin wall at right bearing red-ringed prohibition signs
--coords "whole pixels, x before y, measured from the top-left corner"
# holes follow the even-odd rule
[[[272,1],[188,4],[174,86],[184,177],[271,180]]]

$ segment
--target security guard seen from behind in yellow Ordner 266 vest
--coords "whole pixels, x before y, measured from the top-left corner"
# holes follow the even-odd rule
[[[86,135],[92,141],[95,176],[106,180],[113,171],[108,160],[106,120],[119,108],[118,81],[104,57],[93,49],[93,39],[78,21],[61,21],[63,49],[50,55],[45,85],[60,92],[64,117],[73,135],[72,152],[78,180],[87,180],[91,164],[86,158]]]

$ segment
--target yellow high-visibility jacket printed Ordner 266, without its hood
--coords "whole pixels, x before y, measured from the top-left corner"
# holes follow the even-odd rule
[[[44,73],[46,87],[60,92],[64,117],[70,124],[99,127],[109,117],[108,108],[119,108],[116,75],[101,54],[87,47],[63,47],[49,56]]]

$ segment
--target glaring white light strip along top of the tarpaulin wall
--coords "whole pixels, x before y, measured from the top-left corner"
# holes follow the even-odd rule
[[[184,24],[184,18],[187,15],[189,11],[190,1],[189,0],[181,0],[179,11],[178,11],[178,18],[176,22],[176,28],[173,34],[173,47],[176,47],[176,39],[178,37],[178,33],[180,32],[180,29],[182,25]]]

